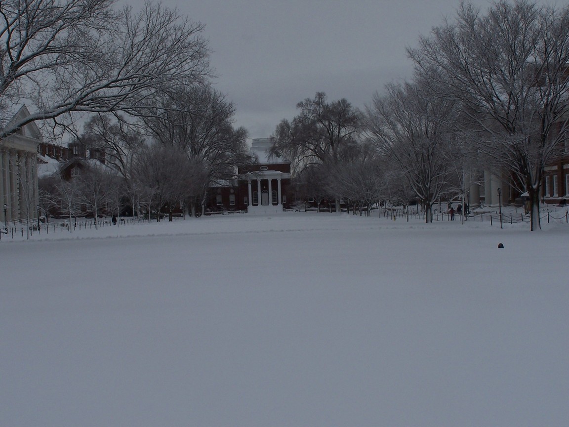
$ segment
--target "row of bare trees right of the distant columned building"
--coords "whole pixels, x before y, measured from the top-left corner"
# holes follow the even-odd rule
[[[464,200],[472,177],[505,171],[540,228],[545,167],[567,150],[569,7],[461,3],[407,52],[413,78],[364,111],[324,93],[299,102],[273,154],[291,159],[315,198],[415,198],[427,222],[441,196]]]

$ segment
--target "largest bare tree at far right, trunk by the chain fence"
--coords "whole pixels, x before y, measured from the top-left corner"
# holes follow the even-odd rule
[[[478,149],[527,191],[531,230],[540,228],[543,171],[567,138],[568,28],[569,7],[500,1],[481,14],[463,4],[455,22],[434,28],[409,51],[439,95],[461,103]]]

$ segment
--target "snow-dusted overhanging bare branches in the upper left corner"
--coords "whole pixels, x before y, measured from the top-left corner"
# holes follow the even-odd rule
[[[157,92],[209,74],[200,23],[160,3],[146,2],[139,13],[114,5],[0,2],[0,106],[7,110],[22,100],[34,106],[30,116],[0,126],[0,138],[32,121],[57,126],[72,112],[137,115]]]

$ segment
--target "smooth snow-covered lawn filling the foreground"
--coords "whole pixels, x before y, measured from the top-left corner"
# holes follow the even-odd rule
[[[569,225],[543,228],[296,212],[3,239],[0,425],[566,427]]]

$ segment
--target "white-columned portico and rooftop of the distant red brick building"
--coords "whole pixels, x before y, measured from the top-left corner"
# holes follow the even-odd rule
[[[259,165],[240,176],[247,181],[248,213],[282,212],[287,202],[283,183],[290,182],[290,162],[281,157],[269,157],[270,147],[270,138],[253,139],[251,152],[257,156]]]

